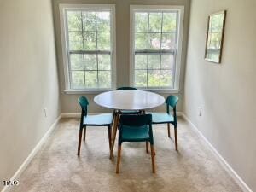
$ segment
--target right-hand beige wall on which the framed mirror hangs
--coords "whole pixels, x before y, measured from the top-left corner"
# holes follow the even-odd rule
[[[207,16],[227,9],[221,64],[204,60]],[[256,191],[256,1],[192,0],[183,111]],[[202,116],[197,116],[197,108]]]

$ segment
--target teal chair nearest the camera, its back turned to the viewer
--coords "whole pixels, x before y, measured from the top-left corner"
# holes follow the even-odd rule
[[[151,147],[152,171],[154,166],[154,138],[151,114],[122,114],[119,121],[119,148],[116,173],[119,173],[121,148],[123,142],[149,142]]]

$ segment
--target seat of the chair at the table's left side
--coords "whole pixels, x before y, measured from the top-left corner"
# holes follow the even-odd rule
[[[102,113],[84,116],[84,125],[110,125],[113,122],[112,113]]]

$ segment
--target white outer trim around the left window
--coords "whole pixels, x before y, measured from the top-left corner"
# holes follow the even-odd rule
[[[65,90],[67,94],[78,94],[78,93],[98,93],[106,90],[115,90],[116,84],[116,41],[115,41],[115,5],[114,4],[60,4],[60,21],[61,21],[61,46],[62,46],[62,59],[64,66],[64,78],[65,78]],[[102,10],[110,11],[110,27],[111,27],[111,73],[112,73],[112,84],[111,89],[84,89],[84,90],[73,90],[70,87],[70,74],[68,64],[68,42],[67,42],[67,10]]]

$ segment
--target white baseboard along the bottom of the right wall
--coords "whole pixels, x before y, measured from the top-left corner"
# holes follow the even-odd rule
[[[203,141],[207,144],[207,146],[211,149],[212,154],[215,155],[215,157],[217,158],[217,160],[220,162],[220,164],[224,167],[224,169],[230,174],[231,177],[233,177],[233,179],[236,181],[236,183],[241,187],[241,189],[244,192],[253,192],[252,189],[250,189],[247,185],[247,183],[245,183],[241,177],[235,172],[235,170],[232,168],[232,166],[230,166],[230,164],[224,160],[224,158],[221,156],[221,154],[218,153],[217,149],[214,148],[212,146],[212,144],[207,140],[206,137],[204,137],[204,135],[201,133],[201,131],[199,131],[199,129],[191,122],[191,120],[184,114],[181,113],[181,116],[183,116],[183,118],[189,123],[189,125],[192,126],[193,130],[195,131],[195,133],[201,137],[203,139]]]

